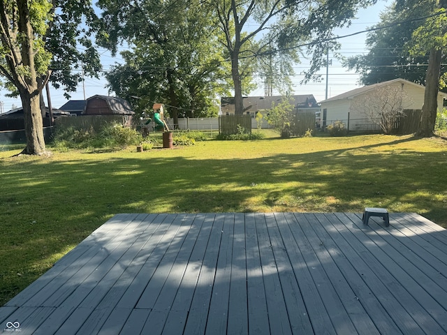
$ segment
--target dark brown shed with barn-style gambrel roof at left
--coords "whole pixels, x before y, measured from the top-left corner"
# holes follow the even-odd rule
[[[87,99],[82,115],[133,115],[131,105],[115,96],[91,96]]]

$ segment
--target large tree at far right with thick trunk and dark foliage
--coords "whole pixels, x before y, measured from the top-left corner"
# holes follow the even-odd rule
[[[433,134],[437,94],[446,89],[446,66],[442,64],[447,45],[446,0],[396,0],[381,15],[378,29],[369,34],[369,53],[346,62],[356,68],[363,84],[402,77],[425,85],[425,97],[417,134]]]

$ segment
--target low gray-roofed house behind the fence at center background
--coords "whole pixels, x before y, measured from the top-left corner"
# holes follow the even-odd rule
[[[284,99],[284,96],[244,96],[244,114],[256,117],[259,111],[270,110],[272,104],[278,105]],[[304,94],[298,96],[288,96],[291,104],[297,112],[319,112],[320,107],[312,94]],[[235,99],[230,97],[221,98],[221,114],[235,114]]]

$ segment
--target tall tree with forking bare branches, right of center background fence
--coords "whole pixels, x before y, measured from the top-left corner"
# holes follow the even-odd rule
[[[294,45],[314,40],[309,48],[313,54],[309,80],[324,64],[323,51],[332,45],[332,28],[342,27],[360,6],[375,0],[209,0],[217,24],[223,32],[222,45],[231,61],[234,84],[235,113],[242,114],[241,59],[260,55],[279,55],[298,50]],[[267,38],[265,38],[267,36]],[[260,42],[257,42],[261,40]],[[323,42],[324,40],[324,42]],[[256,48],[254,48],[256,46]]]

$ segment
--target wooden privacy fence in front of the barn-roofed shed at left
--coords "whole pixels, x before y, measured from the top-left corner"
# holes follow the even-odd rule
[[[85,115],[82,117],[59,117],[54,120],[57,129],[90,129],[100,131],[105,124],[117,123],[123,126],[131,126],[131,115]]]

